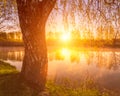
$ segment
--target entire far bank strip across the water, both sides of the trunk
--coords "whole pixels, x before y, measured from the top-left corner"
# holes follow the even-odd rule
[[[0,39],[0,46],[24,46],[23,41]],[[97,47],[97,48],[120,48],[120,40],[47,40],[47,46],[76,46],[76,47]]]

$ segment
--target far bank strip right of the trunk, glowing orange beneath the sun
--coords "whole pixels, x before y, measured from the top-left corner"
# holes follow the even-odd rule
[[[48,46],[76,46],[76,47],[98,47],[98,48],[120,48],[120,40],[88,40],[73,39],[61,41],[57,39],[47,40]]]

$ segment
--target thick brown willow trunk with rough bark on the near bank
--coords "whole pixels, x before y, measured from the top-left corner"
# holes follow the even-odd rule
[[[21,77],[43,90],[47,75],[45,24],[56,0],[16,0],[25,45]]]

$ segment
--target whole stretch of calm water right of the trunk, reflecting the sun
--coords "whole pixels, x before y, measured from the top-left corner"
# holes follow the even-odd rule
[[[80,82],[89,75],[100,85],[119,90],[120,51],[59,49],[49,53],[48,72],[57,83],[63,78]]]

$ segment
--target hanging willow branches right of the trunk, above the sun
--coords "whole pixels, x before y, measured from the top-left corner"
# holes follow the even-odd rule
[[[120,2],[118,0],[87,1],[58,0],[57,10],[54,10],[51,15],[54,20],[51,22],[48,20],[49,27],[53,27],[57,32],[62,31],[63,27],[66,33],[78,30],[83,39],[119,39]],[[105,1],[114,1],[114,3],[108,4]],[[57,28],[56,25],[60,27]],[[53,30],[53,28],[50,29]]]

